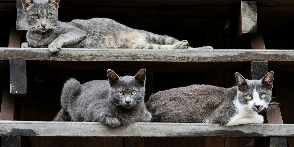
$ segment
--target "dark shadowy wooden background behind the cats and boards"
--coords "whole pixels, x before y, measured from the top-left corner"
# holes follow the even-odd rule
[[[294,44],[294,2],[292,1],[257,1],[258,31],[262,32],[266,49],[293,49]],[[179,40],[187,39],[190,46],[213,46],[214,49],[251,49],[250,41],[233,44],[232,32],[225,28],[229,20],[237,17],[240,1],[94,1],[61,0],[59,20],[90,19],[105,17],[136,29],[143,29],[157,34],[166,34]],[[14,0],[0,0],[0,47],[8,47],[10,28],[15,26],[16,9]],[[21,40],[25,39],[22,32]],[[101,65],[103,64],[103,65]],[[78,66],[82,66],[80,64]],[[250,78],[250,63],[211,63],[186,64],[185,66],[169,63],[158,67],[130,63],[97,62],[91,64],[91,70],[84,67],[63,70],[62,65],[52,64],[42,67],[27,62],[30,72],[29,83],[31,98],[20,100],[20,120],[52,121],[60,109],[61,88],[68,78],[76,78],[81,83],[96,79],[107,79],[106,69],[116,71],[119,76],[134,75],[139,69],[146,68],[147,95],[191,84],[211,84],[231,87],[235,84],[235,72]],[[93,67],[94,66],[94,67]],[[133,65],[132,65],[133,66]],[[174,72],[176,71],[176,72]],[[280,68],[269,62],[269,71],[275,72],[273,96],[281,103],[284,123],[294,123],[294,67]],[[0,70],[0,95],[2,86],[9,83],[7,69]],[[245,138],[197,138],[197,137],[23,137],[31,146],[245,146],[252,140]],[[23,141],[24,142],[24,141]],[[267,146],[267,138],[255,139],[255,146]],[[294,146],[293,139],[288,139],[288,146]]]

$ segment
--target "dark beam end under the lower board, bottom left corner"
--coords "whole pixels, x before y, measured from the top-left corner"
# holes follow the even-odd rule
[[[2,136],[2,147],[21,147],[21,136]]]

